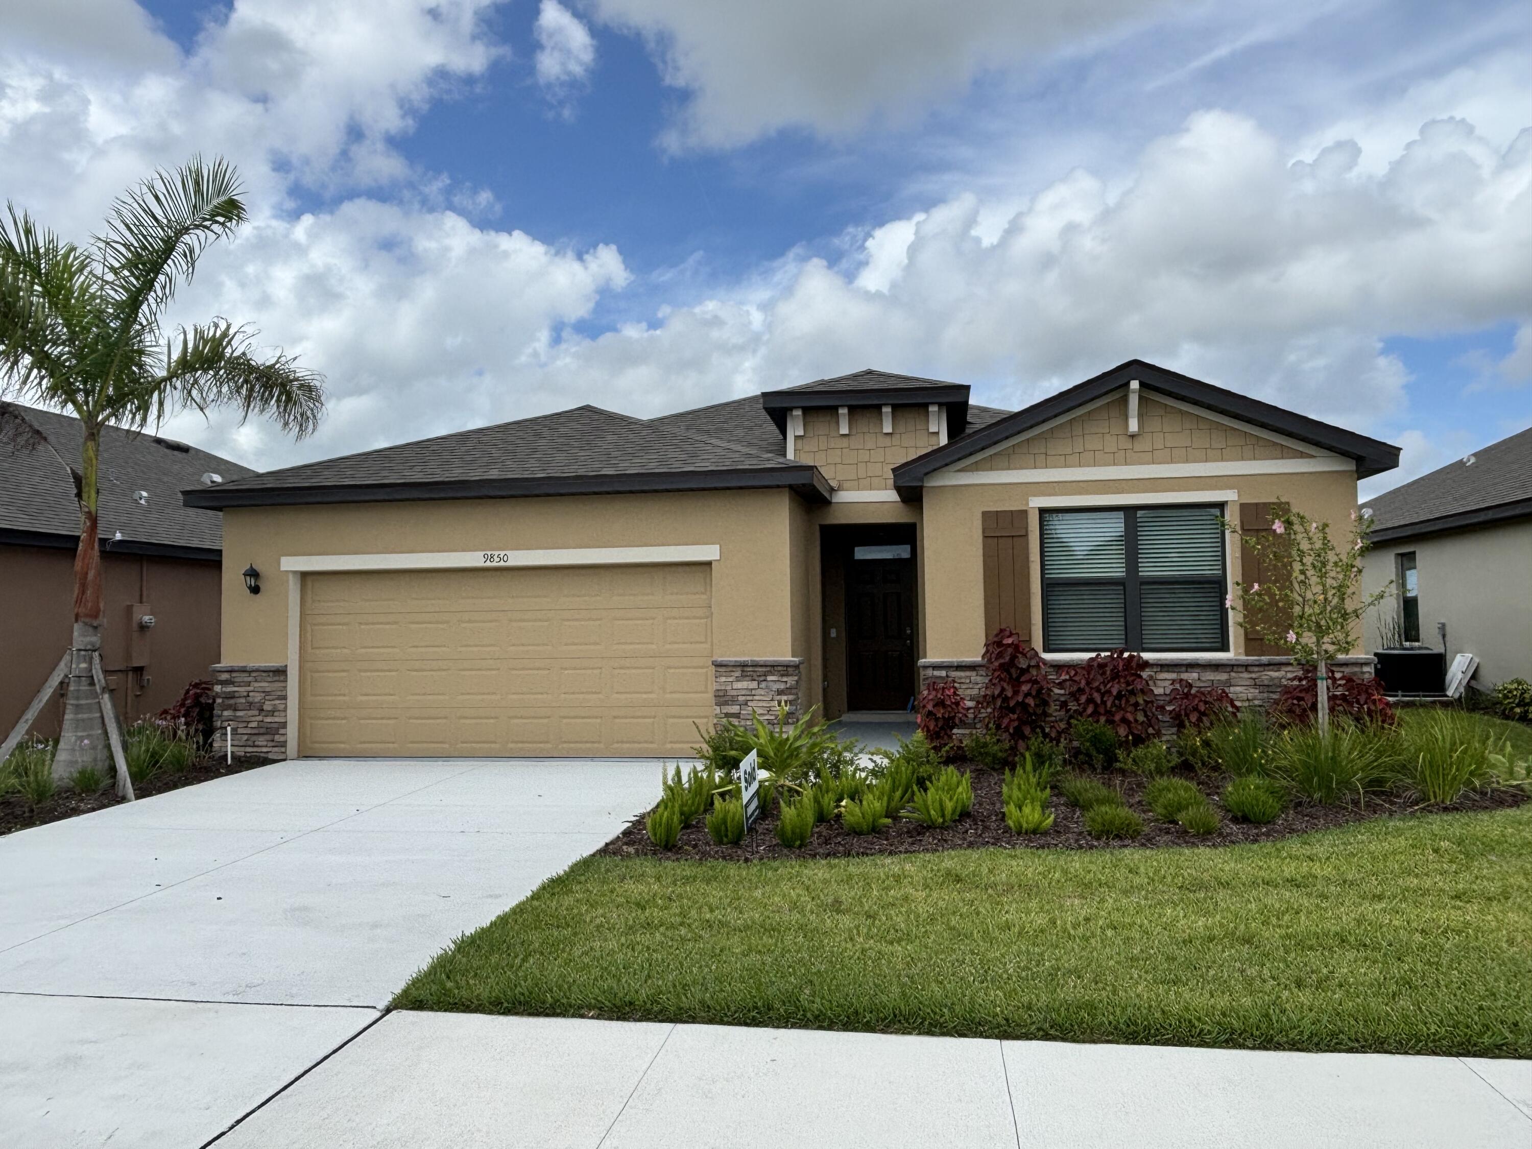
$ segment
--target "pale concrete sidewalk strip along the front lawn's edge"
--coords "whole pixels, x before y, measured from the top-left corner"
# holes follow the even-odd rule
[[[392,1013],[216,1141],[1532,1144],[1532,1062]]]

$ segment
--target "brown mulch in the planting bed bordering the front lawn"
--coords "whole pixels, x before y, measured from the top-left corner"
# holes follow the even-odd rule
[[[1083,772],[1083,771],[1082,771]],[[1022,850],[1143,850],[1161,846],[1235,846],[1239,843],[1276,841],[1295,833],[1324,830],[1371,818],[1393,818],[1402,813],[1417,813],[1423,807],[1399,795],[1368,797],[1363,804],[1318,806],[1293,804],[1267,826],[1252,826],[1235,821],[1218,803],[1227,778],[1196,778],[1187,781],[1198,786],[1213,803],[1223,818],[1216,833],[1196,836],[1175,823],[1161,823],[1143,803],[1147,780],[1121,771],[1112,774],[1088,774],[1109,786],[1118,786],[1128,806],[1144,821],[1138,838],[1102,841],[1085,830],[1085,817],[1066,803],[1059,787],[1049,809],[1054,824],[1045,833],[1011,833],[1005,824],[1000,800],[1000,775],[985,769],[970,769],[973,777],[973,809],[953,826],[931,829],[913,818],[895,818],[892,826],[878,833],[856,835],[846,830],[840,821],[821,823],[813,827],[813,838],[803,849],[791,850],[777,841],[775,810],[763,813],[751,827],[740,846],[715,846],[708,836],[703,820],[697,818],[680,832],[680,841],[673,850],[662,850],[650,841],[643,829],[643,815],[636,818],[622,833],[601,847],[599,853],[617,858],[666,858],[683,861],[763,861],[768,858],[856,858],[879,853],[935,853],[939,850],[976,850],[984,847]],[[1523,791],[1497,789],[1483,794],[1465,794],[1451,806],[1432,806],[1432,813],[1462,810],[1498,810],[1527,801]]]

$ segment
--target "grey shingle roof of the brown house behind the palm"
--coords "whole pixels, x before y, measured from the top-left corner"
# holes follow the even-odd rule
[[[31,423],[46,443],[26,446],[21,437],[0,441],[0,529],[43,535],[80,535],[80,507],[69,467],[80,466],[80,420],[52,411],[8,404]],[[185,443],[106,427],[101,434],[101,538],[123,532],[126,542],[219,550],[224,519],[218,512],[185,507],[181,492],[201,487],[204,473],[237,480],[250,467],[198,450]],[[147,492],[138,504],[133,492]]]

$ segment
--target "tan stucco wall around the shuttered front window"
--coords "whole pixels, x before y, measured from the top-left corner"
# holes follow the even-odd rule
[[[979,516],[985,510],[1028,510],[1033,559],[1033,627],[1042,634],[1042,571],[1037,558],[1037,512],[1028,499],[1042,495],[1134,495],[1152,504],[1154,492],[1233,490],[1241,502],[1287,499],[1310,518],[1348,527],[1356,507],[1354,472],[1298,475],[1218,475],[1210,478],[1092,480],[1088,483],[993,483],[927,487],[924,495],[925,657],[974,659],[984,650],[984,550]],[[1238,504],[1229,509],[1238,519]],[[1230,578],[1239,578],[1239,548],[1229,548]],[[1233,654],[1244,634],[1230,625]]]

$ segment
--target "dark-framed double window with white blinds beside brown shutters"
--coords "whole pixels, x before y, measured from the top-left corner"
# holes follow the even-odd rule
[[[1045,510],[1049,651],[1229,650],[1223,507]]]

